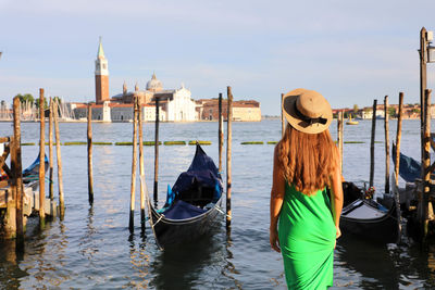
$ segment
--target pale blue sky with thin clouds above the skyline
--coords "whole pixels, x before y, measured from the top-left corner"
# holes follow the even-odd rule
[[[110,96],[154,72],[192,99],[256,100],[278,115],[281,93],[321,92],[335,109],[420,101],[420,29],[434,0],[0,0],[0,100],[17,93],[95,100],[99,37]],[[427,64],[427,87],[435,64]]]

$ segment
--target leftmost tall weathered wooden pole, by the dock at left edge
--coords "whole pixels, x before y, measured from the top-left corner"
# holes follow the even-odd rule
[[[21,123],[20,123],[20,99],[17,97],[13,100],[13,126],[14,126],[14,137],[13,137],[13,160],[11,156],[11,163],[13,166],[13,177],[12,180],[15,184],[15,200],[16,200],[16,245],[20,251],[24,250],[24,188],[23,188],[23,175],[22,175],[22,161],[21,161]]]

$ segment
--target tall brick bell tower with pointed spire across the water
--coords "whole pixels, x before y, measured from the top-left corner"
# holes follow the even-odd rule
[[[96,103],[109,101],[109,68],[108,60],[102,50],[101,37],[96,60]]]

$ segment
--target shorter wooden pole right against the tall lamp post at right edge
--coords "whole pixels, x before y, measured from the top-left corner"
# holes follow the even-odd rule
[[[420,211],[420,225],[422,228],[422,240],[424,241],[428,230],[428,196],[431,191],[431,92],[432,90],[426,89],[424,91],[424,147],[423,147],[423,192]]]

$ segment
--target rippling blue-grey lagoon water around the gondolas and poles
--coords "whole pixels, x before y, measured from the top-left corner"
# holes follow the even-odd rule
[[[226,124],[225,124],[226,125]],[[86,141],[86,124],[61,124],[61,141]],[[153,124],[146,124],[145,139],[152,140]],[[402,152],[420,159],[420,121],[405,121]],[[39,125],[22,124],[23,142],[38,142]],[[94,124],[94,141],[130,141],[132,124]],[[345,125],[344,176],[360,185],[369,179],[371,122]],[[396,122],[390,122],[390,138]],[[336,123],[331,127],[336,136]],[[384,141],[383,122],[376,140]],[[12,134],[0,124],[0,136]],[[161,140],[211,140],[203,147],[217,163],[217,124],[161,124]],[[281,255],[269,245],[269,194],[274,146],[243,146],[243,141],[277,141],[279,121],[233,124],[233,222],[195,244],[158,250],[147,227],[140,234],[136,210],[135,234],[129,235],[132,147],[94,147],[94,207],[88,205],[87,148],[62,146],[65,217],[47,223],[39,231],[30,218],[25,252],[16,255],[13,242],[0,243],[1,289],[285,289]],[[38,147],[23,147],[23,166],[30,164]],[[146,179],[153,180],[153,148],[146,147]],[[375,187],[384,188],[384,143],[375,144]],[[160,204],[166,186],[186,171],[192,146],[160,147]],[[224,166],[225,168],[225,166]],[[54,178],[55,179],[55,178]],[[57,187],[57,184],[55,184]],[[47,187],[46,187],[47,188]],[[57,192],[57,191],[55,191]],[[138,197],[138,194],[136,194]],[[137,199],[138,200],[138,199]],[[136,209],[139,209],[137,201]],[[345,237],[346,238],[346,237]],[[334,264],[334,288],[435,288],[435,249],[421,251],[406,240],[400,245],[374,245],[340,239]]]

